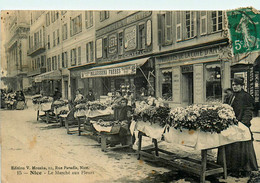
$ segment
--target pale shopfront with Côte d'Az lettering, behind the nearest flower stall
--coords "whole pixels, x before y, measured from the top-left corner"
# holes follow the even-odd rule
[[[230,61],[212,45],[156,58],[156,96],[171,106],[221,102],[230,87]]]

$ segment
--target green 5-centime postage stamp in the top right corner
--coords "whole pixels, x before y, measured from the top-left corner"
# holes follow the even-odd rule
[[[260,14],[253,8],[227,11],[233,53],[260,50]]]

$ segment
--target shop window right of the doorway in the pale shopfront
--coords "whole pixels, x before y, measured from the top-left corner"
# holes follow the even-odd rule
[[[205,68],[206,68],[206,72],[205,72],[206,101],[221,102],[222,86],[221,86],[220,64],[207,64]]]

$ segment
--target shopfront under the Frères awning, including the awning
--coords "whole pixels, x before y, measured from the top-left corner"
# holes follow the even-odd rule
[[[154,96],[154,64],[151,58],[142,58],[116,64],[97,66],[81,72],[81,78],[99,98],[120,90],[123,95]]]

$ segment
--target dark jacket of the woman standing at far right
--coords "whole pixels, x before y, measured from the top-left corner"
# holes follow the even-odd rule
[[[237,120],[250,127],[254,110],[253,97],[242,89],[240,92],[233,93],[230,105],[234,109]]]

